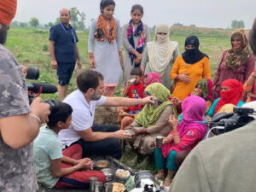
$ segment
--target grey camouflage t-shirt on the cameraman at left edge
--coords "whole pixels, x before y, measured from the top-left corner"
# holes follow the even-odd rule
[[[14,55],[0,44],[0,118],[29,113],[24,75]],[[38,189],[32,143],[15,150],[0,134],[0,191],[33,192]]]

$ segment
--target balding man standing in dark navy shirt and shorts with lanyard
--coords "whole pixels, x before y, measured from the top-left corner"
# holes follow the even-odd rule
[[[67,96],[67,85],[72,77],[73,69],[77,62],[81,69],[81,61],[76,32],[69,24],[70,11],[61,9],[61,23],[52,26],[49,30],[49,52],[51,55],[51,67],[57,69],[59,79],[58,93],[60,101]]]

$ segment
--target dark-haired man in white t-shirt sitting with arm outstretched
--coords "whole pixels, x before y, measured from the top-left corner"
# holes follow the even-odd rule
[[[83,156],[94,154],[111,155],[119,159],[122,155],[118,139],[129,139],[125,131],[116,125],[93,125],[97,106],[132,106],[152,101],[152,96],[143,99],[102,96],[104,81],[101,73],[84,70],[77,78],[79,89],[69,94],[63,102],[73,108],[72,124],[61,130],[59,138],[63,148],[78,143],[83,148]]]

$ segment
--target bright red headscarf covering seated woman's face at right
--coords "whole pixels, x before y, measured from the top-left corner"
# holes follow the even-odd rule
[[[236,106],[241,100],[243,92],[241,82],[237,81],[236,79],[227,79],[221,84],[221,86],[228,87],[230,90],[220,91],[220,100],[217,103],[214,114],[217,113],[218,109],[224,106],[224,104],[230,103]]]

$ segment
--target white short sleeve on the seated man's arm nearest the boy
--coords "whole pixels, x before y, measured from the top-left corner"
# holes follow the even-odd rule
[[[71,125],[73,126],[73,129],[75,131],[84,131],[90,128],[91,120],[92,120],[92,117],[90,115],[89,108],[76,109],[76,110],[73,110],[73,113],[72,113]]]

